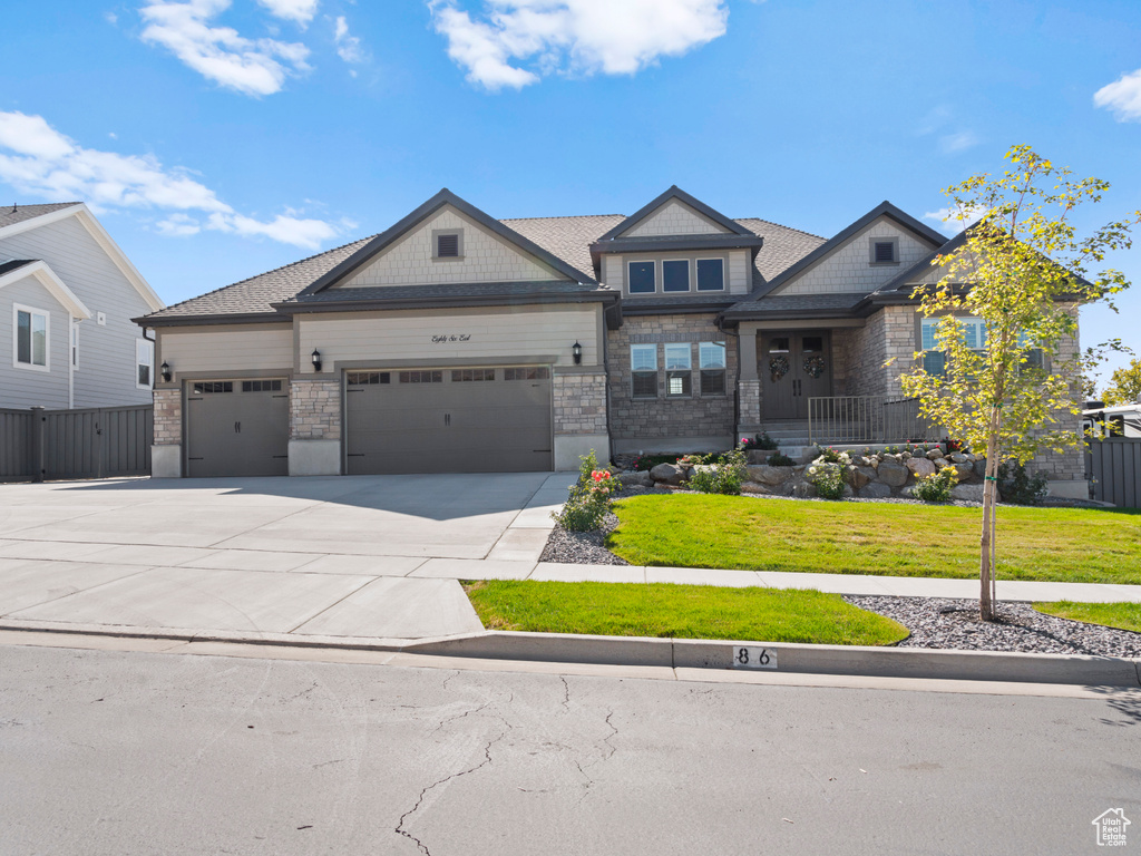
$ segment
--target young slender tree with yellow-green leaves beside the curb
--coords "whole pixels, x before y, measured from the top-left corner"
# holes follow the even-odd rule
[[[921,352],[901,378],[926,419],[986,450],[979,563],[986,621],[994,620],[998,466],[1082,443],[1079,378],[1090,357],[1077,348],[1078,308],[1128,286],[1120,272],[1092,268],[1108,251],[1128,248],[1130,229],[1141,221],[1138,211],[1079,236],[1074,212],[1100,201],[1109,185],[1073,179],[1029,146],[1014,146],[1006,160],[1011,169],[1002,176],[973,176],[945,191],[953,210],[979,217],[934,260],[939,281],[913,294],[924,316],[938,318],[945,369],[928,373]],[[981,337],[968,340],[964,316],[984,322]],[[1052,355],[1052,364],[1038,361],[1038,350]]]

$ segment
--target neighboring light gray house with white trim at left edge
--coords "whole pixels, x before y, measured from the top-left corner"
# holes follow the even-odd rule
[[[163,306],[87,205],[0,208],[0,407],[149,403]]]

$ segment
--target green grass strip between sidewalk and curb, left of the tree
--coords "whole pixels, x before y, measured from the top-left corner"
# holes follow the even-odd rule
[[[819,591],[489,580],[464,586],[488,630],[893,645],[907,629]]]

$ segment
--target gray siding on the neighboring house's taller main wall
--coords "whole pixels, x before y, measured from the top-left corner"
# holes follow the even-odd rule
[[[43,259],[56,275],[91,310],[91,320],[80,324],[79,369],[75,371],[76,407],[103,407],[116,404],[149,404],[151,391],[136,388],[135,340],[143,336],[131,318],[151,310],[141,294],[123,276],[103,248],[76,218],[0,239],[0,257]],[[10,286],[9,286],[10,289]],[[11,298],[0,289],[7,315],[11,315]],[[52,305],[58,305],[52,300]],[[63,312],[63,310],[60,310]],[[105,326],[96,322],[96,313],[107,316]],[[66,313],[63,315],[66,318]],[[2,321],[2,318],[0,318]],[[10,326],[11,322],[3,322]],[[7,334],[10,337],[11,331]],[[66,334],[56,339],[52,330],[52,349],[66,342]],[[11,345],[8,345],[9,352]],[[65,352],[66,353],[66,352]],[[52,355],[55,361],[55,355]],[[11,364],[11,360],[8,360]],[[60,364],[66,368],[66,362]],[[52,362],[52,373],[55,363]],[[67,406],[66,372],[64,373]],[[6,404],[0,401],[0,405]],[[21,405],[8,405],[21,406]]]

